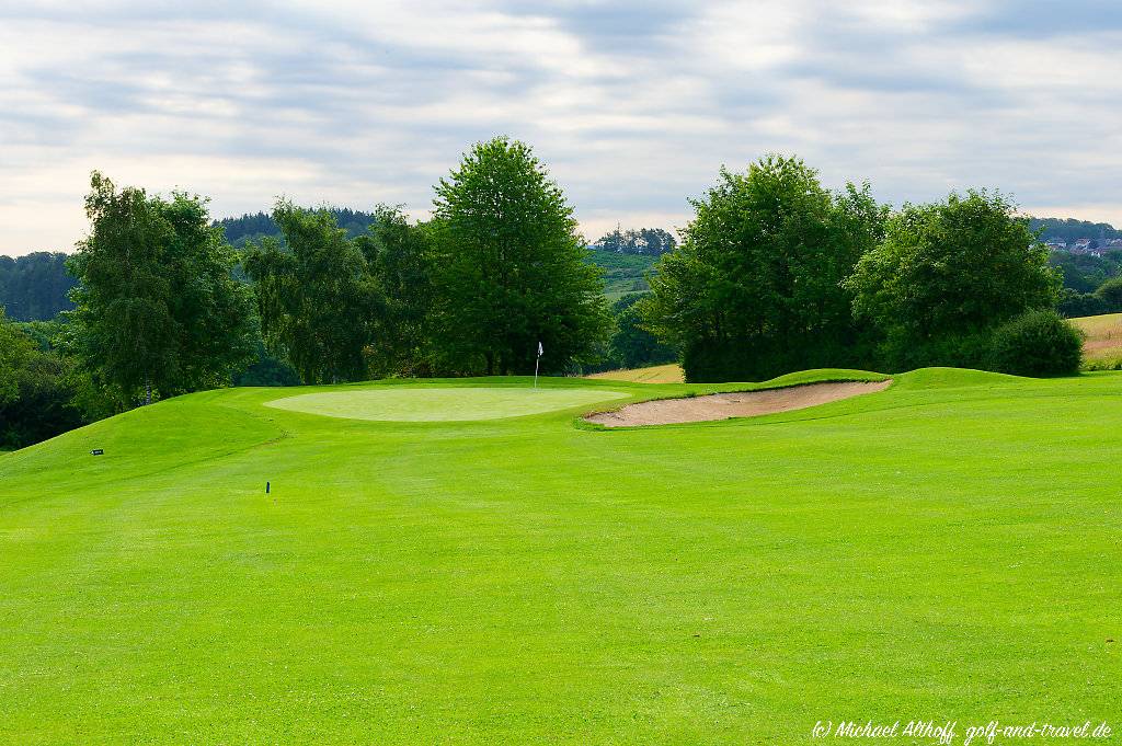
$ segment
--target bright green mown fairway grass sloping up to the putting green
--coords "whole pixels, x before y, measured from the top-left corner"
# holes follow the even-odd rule
[[[504,384],[525,381],[477,385]],[[622,432],[261,406],[292,393],[0,454],[0,742],[794,744],[843,717],[1122,715],[1122,375],[928,370]]]

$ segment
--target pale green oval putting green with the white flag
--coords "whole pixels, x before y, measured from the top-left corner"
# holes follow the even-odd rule
[[[521,417],[627,396],[603,388],[378,388],[301,394],[268,406],[349,420],[441,422]]]

